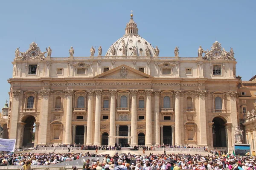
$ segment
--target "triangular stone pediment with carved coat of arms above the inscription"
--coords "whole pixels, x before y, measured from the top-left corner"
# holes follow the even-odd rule
[[[94,78],[104,79],[153,79],[154,77],[131,68],[127,65],[120,65],[109,71],[95,76]]]

